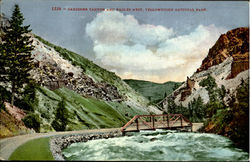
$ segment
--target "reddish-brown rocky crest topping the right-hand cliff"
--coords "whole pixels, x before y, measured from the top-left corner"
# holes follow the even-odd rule
[[[227,79],[234,78],[240,72],[249,69],[249,28],[237,28],[222,34],[215,45],[209,50],[207,57],[196,72],[222,63],[226,58],[233,57],[231,73]]]

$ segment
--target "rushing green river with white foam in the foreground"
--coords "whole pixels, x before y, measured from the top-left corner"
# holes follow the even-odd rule
[[[145,131],[132,136],[74,143],[63,150],[66,160],[248,160],[223,136],[207,133]]]

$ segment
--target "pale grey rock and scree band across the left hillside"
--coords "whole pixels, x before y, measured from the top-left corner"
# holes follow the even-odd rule
[[[31,76],[42,86],[50,90],[66,87],[82,96],[93,97],[105,101],[123,101],[116,87],[95,82],[84,74],[80,67],[73,66],[64,60],[53,48],[33,38],[35,49],[32,51],[35,67]]]

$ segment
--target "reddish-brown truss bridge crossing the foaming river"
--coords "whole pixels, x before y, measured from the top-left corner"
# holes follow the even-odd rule
[[[140,130],[185,129],[192,131],[193,124],[182,114],[136,115],[121,128],[121,132],[139,132]]]

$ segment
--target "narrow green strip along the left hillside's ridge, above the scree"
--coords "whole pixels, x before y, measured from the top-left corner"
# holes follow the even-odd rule
[[[128,86],[120,77],[118,77],[115,73],[107,71],[104,68],[94,64],[92,61],[80,56],[72,51],[69,51],[65,48],[61,48],[59,46],[53,45],[52,43],[42,39],[39,36],[35,35],[39,41],[44,43],[45,45],[54,48],[60,55],[69,60],[73,65],[81,67],[85,72],[85,74],[91,76],[95,81],[101,82],[104,81],[118,88],[118,91],[122,96],[128,97],[130,100],[136,101],[140,103],[142,106],[147,106],[149,101],[141,96],[141,94],[137,93],[134,89]]]

